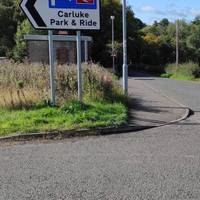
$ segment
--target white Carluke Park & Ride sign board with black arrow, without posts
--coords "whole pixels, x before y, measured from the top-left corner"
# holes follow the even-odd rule
[[[20,6],[36,29],[100,29],[99,0],[22,0]]]

